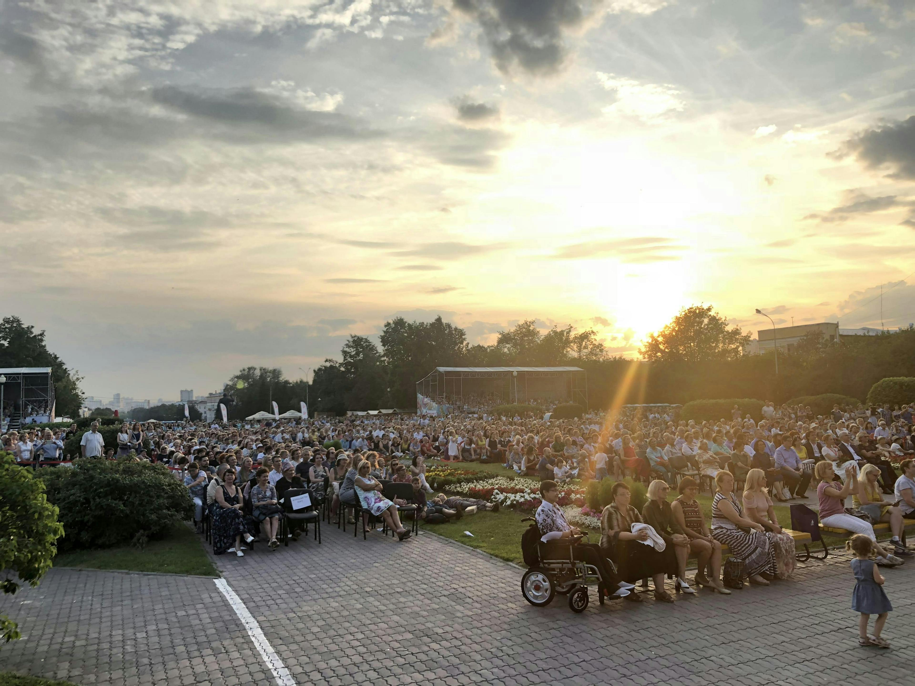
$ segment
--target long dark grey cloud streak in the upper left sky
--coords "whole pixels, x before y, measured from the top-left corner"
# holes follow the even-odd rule
[[[150,91],[149,96],[153,102],[174,111],[221,124],[242,142],[264,138],[361,139],[380,135],[366,123],[345,114],[295,107],[279,96],[253,88],[192,90],[162,86]]]

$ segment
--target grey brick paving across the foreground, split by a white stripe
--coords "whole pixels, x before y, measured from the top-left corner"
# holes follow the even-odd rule
[[[485,515],[481,515],[485,516]],[[524,602],[522,571],[427,533],[362,541],[325,527],[217,558],[297,684],[906,684],[915,561],[887,570],[891,650],[859,648],[847,557],[796,578],[675,604],[572,613]],[[212,580],[52,570],[0,599],[24,639],[0,669],[79,684],[274,683]]]

